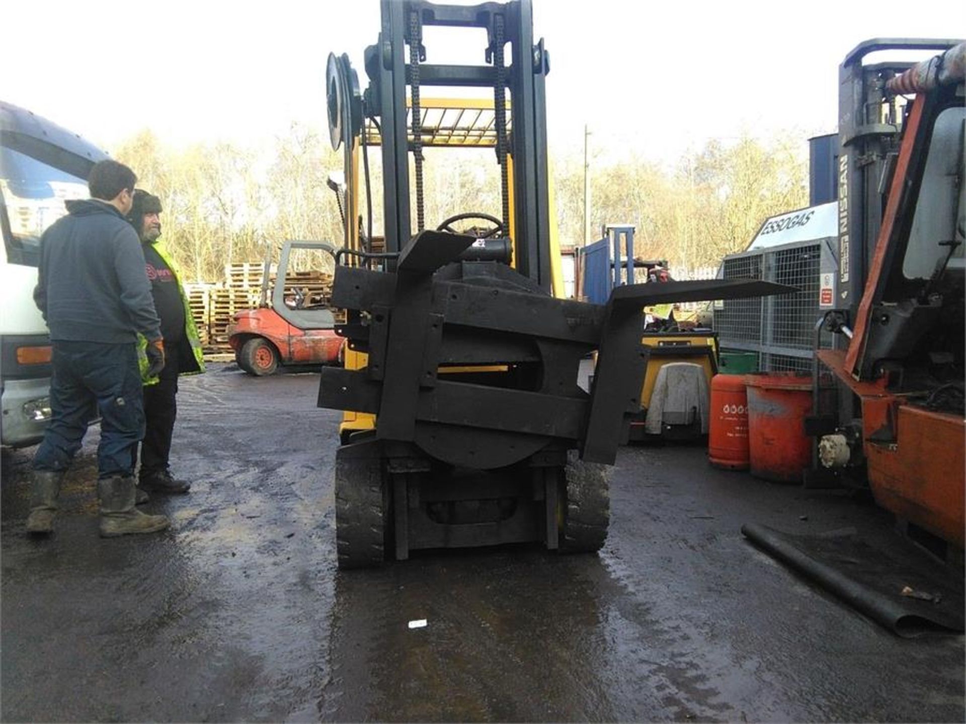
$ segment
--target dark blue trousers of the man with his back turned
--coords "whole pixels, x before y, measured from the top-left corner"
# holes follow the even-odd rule
[[[100,478],[131,475],[144,437],[144,402],[134,343],[54,342],[50,425],[35,470],[63,471],[80,450],[88,422],[100,416]]]

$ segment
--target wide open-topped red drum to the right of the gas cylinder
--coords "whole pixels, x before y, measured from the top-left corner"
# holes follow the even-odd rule
[[[811,377],[748,375],[748,440],[752,475],[777,483],[801,483],[811,464]]]

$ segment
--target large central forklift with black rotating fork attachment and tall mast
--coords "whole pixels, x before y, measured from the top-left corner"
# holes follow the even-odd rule
[[[381,9],[379,39],[365,51],[366,90],[346,55],[330,55],[327,72],[329,129],[348,181],[332,302],[347,314],[336,331],[365,364],[324,369],[318,404],[375,416],[336,454],[339,566],[499,543],[596,551],[610,519],[607,465],[639,410],[642,308],[785,288],[715,280],[624,286],[606,304],[554,297],[550,56],[534,42],[530,0],[382,0]],[[428,63],[429,26],[484,31],[485,64]],[[501,201],[493,213],[468,209],[427,224],[427,86],[492,93]],[[369,242],[371,220],[363,234],[355,223],[359,148],[368,185],[368,122],[382,139],[384,251]],[[468,215],[473,231],[459,233]],[[578,374],[594,350],[587,393]]]

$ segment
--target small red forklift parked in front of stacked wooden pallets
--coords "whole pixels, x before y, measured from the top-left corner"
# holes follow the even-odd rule
[[[228,344],[239,367],[249,375],[274,374],[279,366],[331,365],[340,361],[343,338],[335,334],[335,317],[327,299],[298,287],[289,273],[294,249],[334,251],[323,241],[286,241],[270,287],[270,262],[262,277],[258,309],[238,312],[228,326]]]

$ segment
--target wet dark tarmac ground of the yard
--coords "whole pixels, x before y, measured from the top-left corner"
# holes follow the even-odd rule
[[[101,540],[97,431],[57,533],[28,540],[32,450],[4,454],[3,721],[962,721],[962,636],[904,639],[768,558],[745,522],[855,526],[839,494],[622,450],[597,555],[533,547],[337,571],[338,415],[317,376],[185,378],[153,536]],[[425,619],[426,627],[409,622]]]

